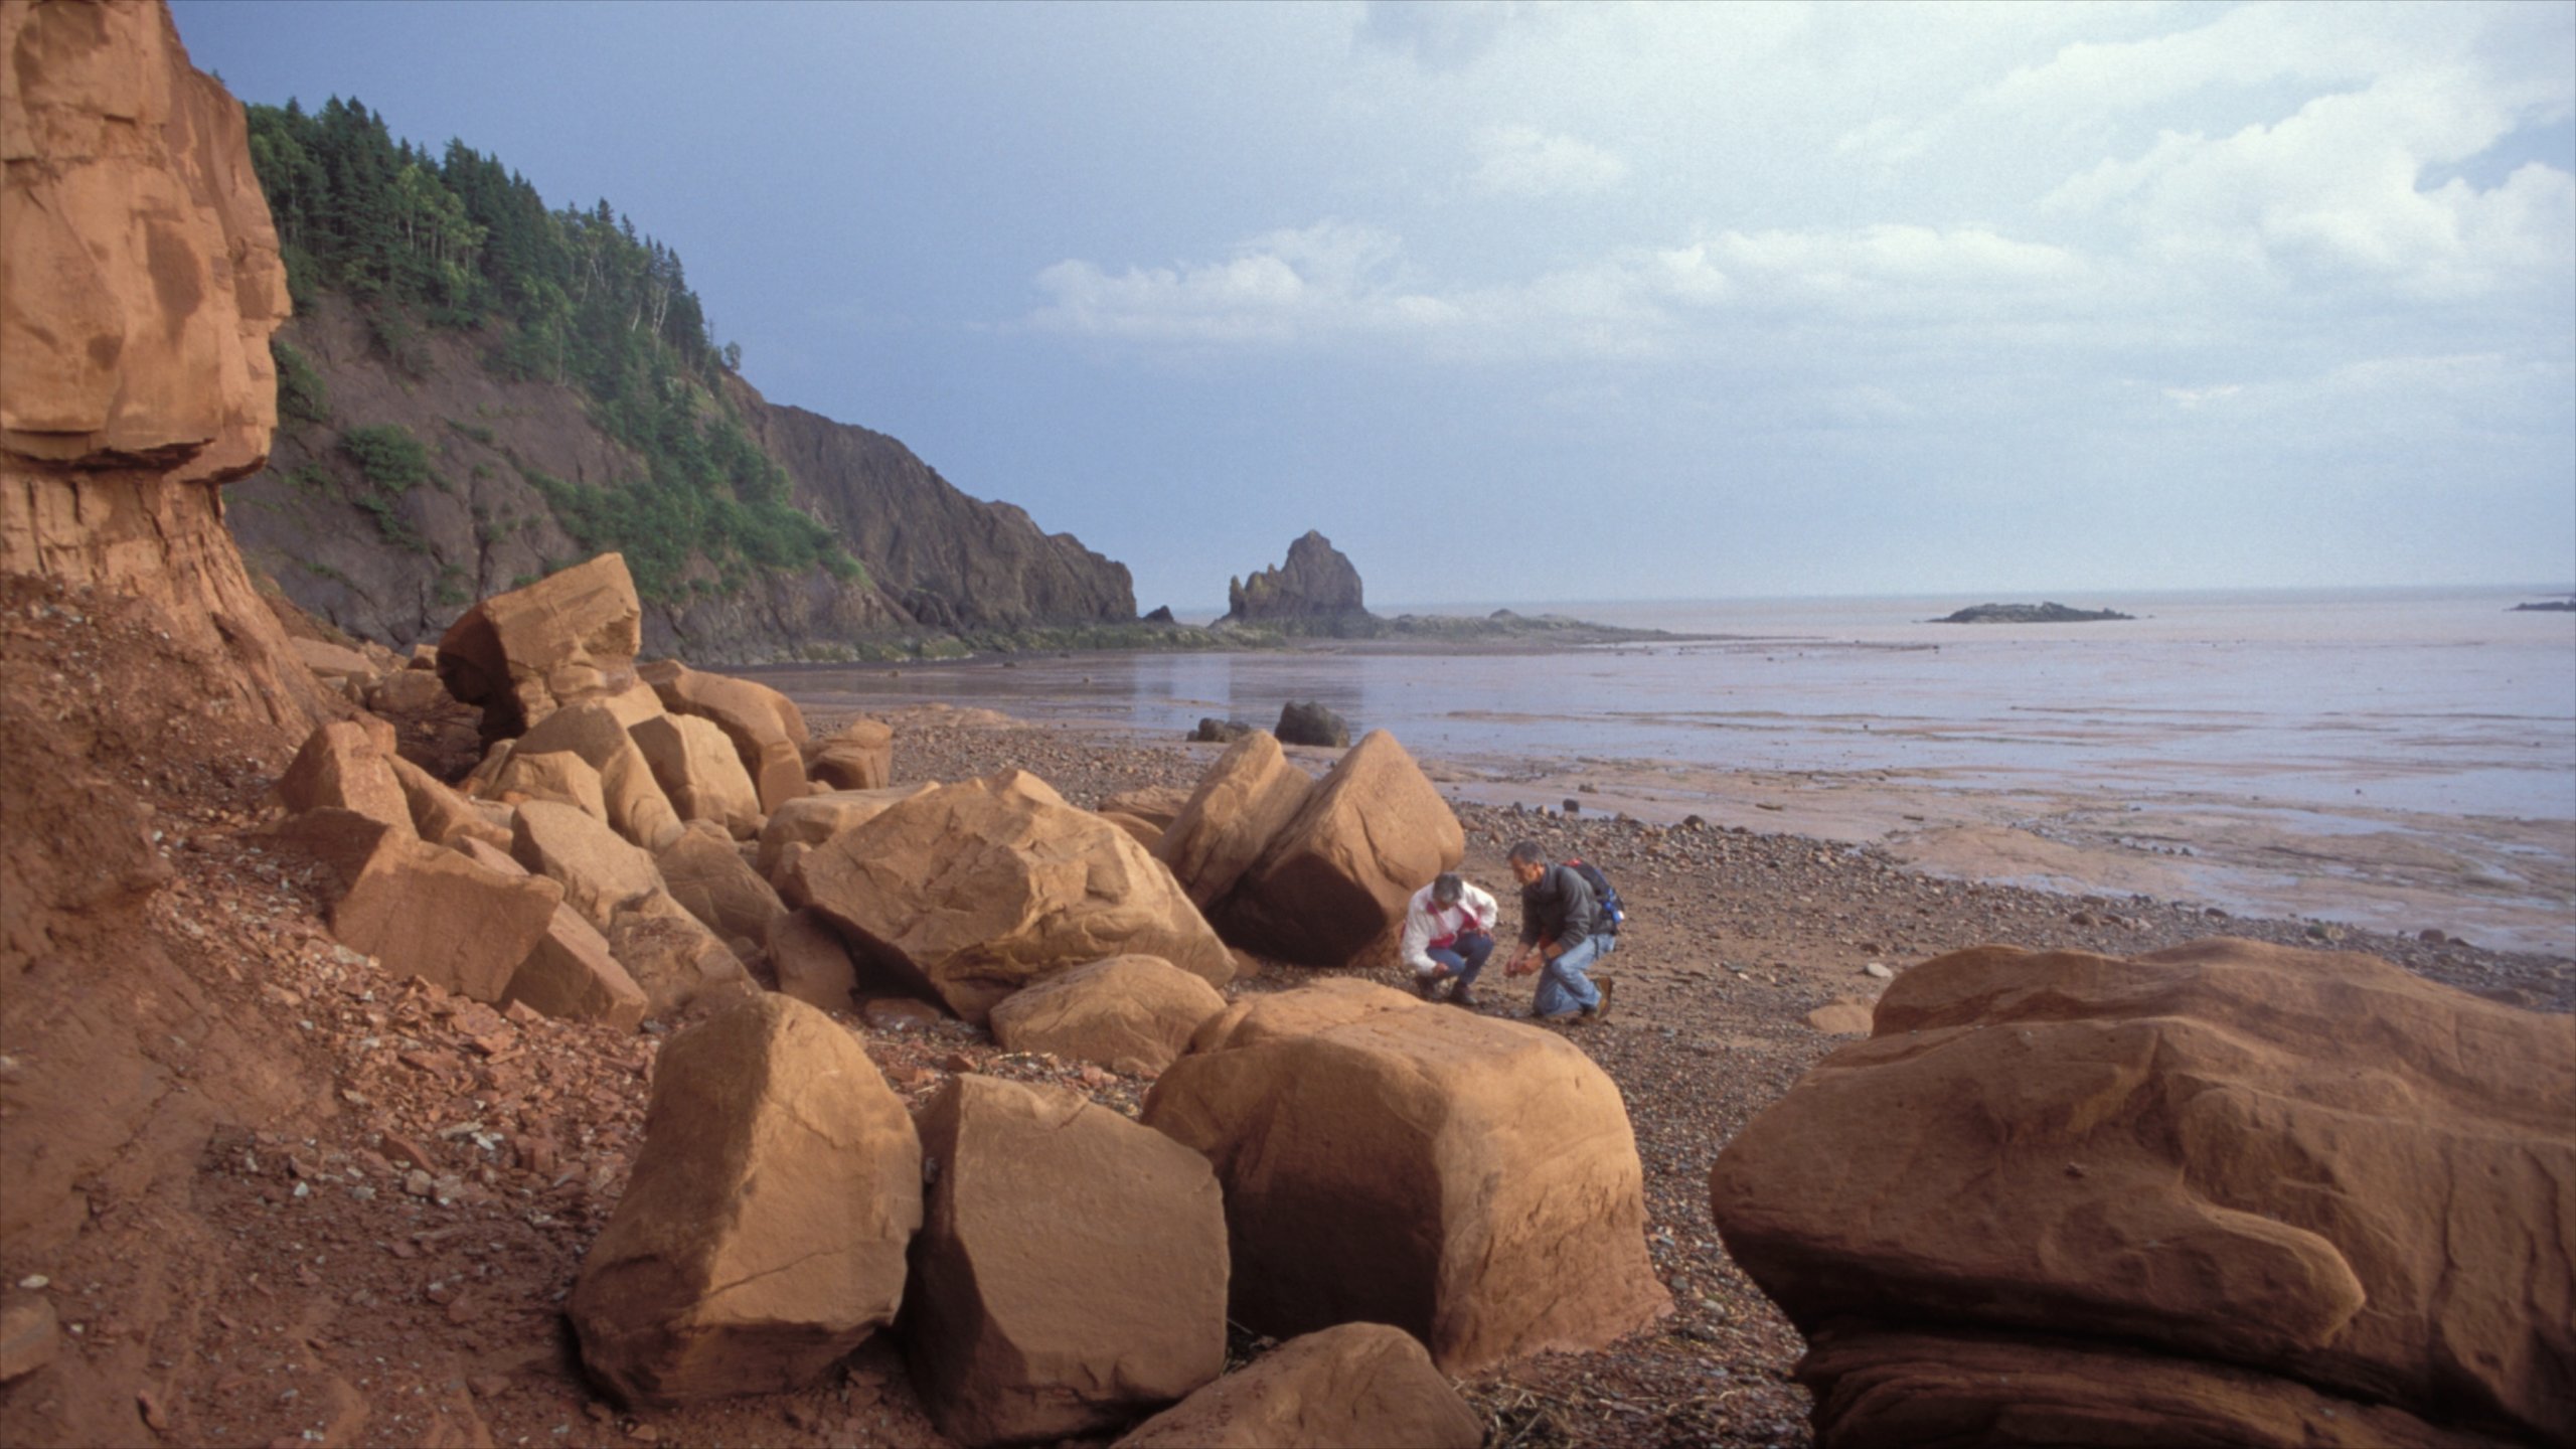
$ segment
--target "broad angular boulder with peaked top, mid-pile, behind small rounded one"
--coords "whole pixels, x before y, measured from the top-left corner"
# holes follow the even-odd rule
[[[793,861],[781,895],[976,1024],[1023,985],[1108,957],[1234,980],[1226,944],[1172,874],[1028,771],[894,804]]]

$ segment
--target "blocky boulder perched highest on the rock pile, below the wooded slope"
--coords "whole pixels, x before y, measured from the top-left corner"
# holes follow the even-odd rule
[[[600,554],[466,608],[438,639],[438,678],[479,704],[484,740],[500,740],[562,704],[629,688],[641,629],[626,557]]]

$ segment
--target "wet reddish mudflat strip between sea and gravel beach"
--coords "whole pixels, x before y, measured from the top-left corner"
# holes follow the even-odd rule
[[[770,681],[781,683],[781,681]],[[788,694],[796,694],[788,688]],[[1023,699],[1028,704],[1033,699]],[[817,719],[953,712],[1121,748],[1193,745],[1126,719],[1025,717],[940,701],[799,699]],[[1262,722],[1255,722],[1262,724]],[[1399,735],[1401,740],[1401,735]],[[1868,846],[1935,879],[2218,908],[2231,918],[2326,923],[2380,936],[2439,933],[2478,949],[2576,962],[2576,822],[2318,807],[2218,792],[2107,799],[2079,781],[2009,784],[1968,771],[1783,771],[1669,758],[1515,758],[1406,750],[1455,804],[1631,817]],[[1291,748],[1321,771],[1337,750]]]

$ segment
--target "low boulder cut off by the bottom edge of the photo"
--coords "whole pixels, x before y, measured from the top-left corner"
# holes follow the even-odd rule
[[[1476,1449],[1484,1421],[1422,1341],[1383,1323],[1303,1333],[1139,1423],[1118,1449]]]

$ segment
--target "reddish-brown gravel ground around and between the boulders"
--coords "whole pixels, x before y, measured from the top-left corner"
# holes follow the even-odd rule
[[[93,647],[98,621],[26,619],[10,678],[49,706],[67,701],[64,717],[75,706],[113,719],[185,712],[191,686],[175,665],[85,673],[80,650]],[[116,647],[147,657],[144,639],[149,629]],[[407,748],[435,755],[435,724],[407,722]],[[902,712],[894,724],[902,779],[1020,766],[1077,804],[1144,784],[1188,786],[1216,753],[940,709]],[[1296,755],[1316,771],[1329,761]],[[0,1250],[0,1287],[44,1294],[64,1325],[57,1364],[0,1390],[0,1441],[940,1444],[884,1336],[848,1372],[796,1395],[649,1413],[603,1403],[580,1374],[562,1302],[626,1186],[667,1031],[621,1036],[500,1013],[394,982],[332,944],[312,871],[270,853],[258,830],[276,761],[234,753],[183,766],[152,732],[98,732],[93,761],[100,784],[64,789],[113,781],[131,792],[149,851],[167,866],[131,920],[134,941],[178,962],[198,1018],[222,1024],[155,1047],[178,1093],[170,1101],[276,1106],[224,1109],[193,1163],[155,1168],[137,1147],[88,1181],[77,1238]],[[1883,987],[1870,964],[1893,975],[1981,941],[2128,954],[2226,931],[2372,951],[2524,1006],[2566,1011],[2576,998],[2568,962],[2357,933],[2318,941],[2306,923],[2215,920],[2177,902],[1937,882],[1793,835],[1492,807],[1461,807],[1461,820],[1466,871],[1489,890],[1507,884],[1510,843],[1533,835],[1602,864],[1631,905],[1610,962],[1618,1011],[1564,1031],[1628,1098],[1651,1253],[1677,1302],[1662,1325],[1607,1351],[1463,1382],[1499,1446],[1808,1439],[1806,1395],[1788,1377],[1801,1341],[1718,1245],[1708,1168],[1834,1047],[1806,1013]],[[1512,915],[1512,892],[1497,895]],[[82,962],[88,990],[126,990],[113,957]],[[1383,944],[1350,969],[1399,980]],[[1311,972],[1265,964],[1231,990],[1303,980]],[[1528,1008],[1525,982],[1494,980],[1486,998],[1486,1011]],[[26,1039],[41,1039],[41,1000],[21,987],[8,1016],[0,1085],[13,1093],[82,1070],[80,1057],[26,1052]],[[920,1013],[871,1011],[850,1026],[914,1104],[961,1070],[1061,1083],[1126,1114],[1151,1085],[999,1052],[971,1026]],[[28,1127],[15,1119],[10,1129]],[[1257,1348],[1236,1341],[1239,1354]]]

